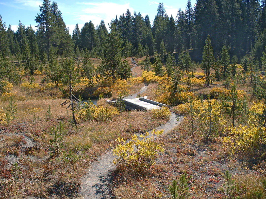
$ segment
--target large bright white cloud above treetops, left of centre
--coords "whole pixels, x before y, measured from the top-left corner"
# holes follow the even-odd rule
[[[118,17],[125,14],[127,9],[133,14],[134,9],[130,7],[129,3],[127,4],[117,4],[112,2],[102,2],[102,3],[79,3],[84,5],[84,9],[81,11],[82,14],[79,16],[79,19],[85,22],[92,20],[94,26],[100,24],[103,19],[106,27],[108,28],[108,23],[111,22],[113,18],[117,15]]]

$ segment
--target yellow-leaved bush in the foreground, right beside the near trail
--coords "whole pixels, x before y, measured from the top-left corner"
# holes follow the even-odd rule
[[[118,144],[114,148],[114,164],[121,166],[122,170],[128,171],[133,175],[145,175],[155,165],[157,154],[164,151],[161,136],[163,130],[151,132],[151,136],[146,132],[140,135],[132,136],[132,140],[126,143],[126,139],[118,138]]]

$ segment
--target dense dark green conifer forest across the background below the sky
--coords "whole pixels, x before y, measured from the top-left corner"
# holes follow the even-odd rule
[[[84,57],[85,49],[91,57],[105,58],[106,41],[113,29],[122,39],[124,57],[202,49],[210,35],[216,57],[225,45],[231,58],[236,55],[240,59],[252,52],[260,62],[266,45],[265,6],[265,0],[198,0],[192,7],[188,0],[185,12],[179,9],[177,16],[168,16],[163,3],[159,3],[153,24],[148,15],[127,10],[108,23],[110,31],[103,20],[96,27],[89,21],[81,29],[76,24],[70,35],[57,3],[44,0],[35,18],[36,32],[21,21],[16,32],[10,25],[6,29],[0,17],[0,47],[3,56],[22,55],[31,62],[49,60],[51,55]],[[201,54],[192,59],[200,60]]]

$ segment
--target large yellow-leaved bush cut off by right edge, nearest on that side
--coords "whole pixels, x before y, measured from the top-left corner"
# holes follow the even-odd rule
[[[265,159],[266,128],[239,126],[225,128],[224,143],[229,144],[232,153],[242,158]]]

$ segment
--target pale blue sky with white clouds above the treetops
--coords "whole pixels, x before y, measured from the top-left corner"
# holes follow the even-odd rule
[[[51,0],[52,2],[52,0]],[[94,26],[98,25],[103,19],[106,27],[110,23],[111,19],[118,17],[123,13],[126,13],[127,8],[131,14],[136,11],[140,12],[144,17],[149,15],[149,19],[152,23],[155,18],[157,7],[161,1],[126,1],[126,0],[112,0],[112,1],[100,1],[100,0],[56,0],[64,22],[69,27],[69,33],[72,34],[75,24],[78,24],[81,29],[85,22],[92,20]],[[176,13],[179,8],[185,11],[187,0],[165,0],[162,1],[166,13],[173,15],[176,18]],[[28,26],[37,25],[35,22],[35,16],[40,13],[39,6],[42,4],[41,0],[0,0],[0,15],[6,27],[11,24],[11,28],[16,32],[19,20],[22,24]],[[196,4],[196,0],[191,0],[192,6]],[[35,28],[36,29],[36,28]]]

